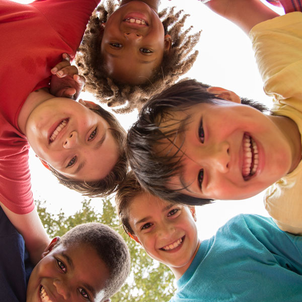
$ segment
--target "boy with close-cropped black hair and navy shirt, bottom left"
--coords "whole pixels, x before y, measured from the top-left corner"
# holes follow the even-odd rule
[[[101,223],[81,224],[54,238],[34,267],[22,236],[0,208],[0,241],[4,301],[109,301],[129,274],[124,240]]]

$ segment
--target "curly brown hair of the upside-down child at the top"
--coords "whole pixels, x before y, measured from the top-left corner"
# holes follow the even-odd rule
[[[169,54],[164,54],[162,64],[154,71],[152,79],[146,84],[131,86],[120,84],[107,77],[102,68],[100,32],[102,23],[115,11],[118,0],[108,0],[93,13],[87,26],[82,44],[78,50],[76,63],[80,72],[86,78],[85,89],[95,95],[101,103],[109,107],[121,106],[117,113],[131,112],[140,109],[146,100],[170,86],[186,73],[196,60],[198,51],[192,49],[199,41],[201,31],[190,34],[192,26],[182,31],[185,20],[189,16],[183,11],[175,12],[175,7],[159,13],[165,34],[172,37],[172,48]]]

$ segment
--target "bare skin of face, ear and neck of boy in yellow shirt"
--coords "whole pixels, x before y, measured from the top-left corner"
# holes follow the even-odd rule
[[[176,139],[177,146],[183,143],[183,169],[171,179],[170,188],[198,198],[244,199],[294,170],[301,160],[301,143],[292,120],[242,105],[239,96],[222,88],[208,91],[224,100],[175,114],[177,119],[187,114],[191,118],[184,134]],[[255,140],[259,155],[257,171],[248,180],[243,177],[245,134]]]

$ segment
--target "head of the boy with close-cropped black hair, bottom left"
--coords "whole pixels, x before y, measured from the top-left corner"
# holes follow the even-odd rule
[[[45,249],[29,278],[27,302],[109,301],[129,269],[129,251],[119,234],[101,223],[81,224]]]

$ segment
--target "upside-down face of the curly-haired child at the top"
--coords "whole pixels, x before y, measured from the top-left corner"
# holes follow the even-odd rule
[[[138,85],[152,77],[170,46],[158,14],[142,1],[131,1],[109,17],[101,54],[110,77]]]

